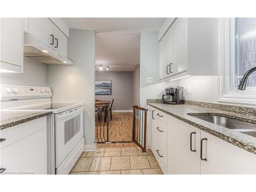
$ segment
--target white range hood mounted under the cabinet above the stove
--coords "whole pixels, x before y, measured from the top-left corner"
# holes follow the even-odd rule
[[[47,65],[73,65],[73,61],[60,55],[29,33],[24,33],[24,57]]]

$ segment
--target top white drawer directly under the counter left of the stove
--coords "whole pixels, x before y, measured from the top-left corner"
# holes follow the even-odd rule
[[[1,130],[1,138],[5,139],[0,143],[0,149],[20,140],[29,135],[38,132],[47,127],[47,117],[41,117],[28,121],[26,123],[18,124],[13,127]]]

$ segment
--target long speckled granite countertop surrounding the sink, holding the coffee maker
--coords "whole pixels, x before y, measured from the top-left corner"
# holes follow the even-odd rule
[[[230,117],[230,118],[243,120],[243,121],[256,124],[255,116],[248,116],[248,115],[242,115],[239,113],[231,113],[227,111],[209,109],[209,108],[204,108],[201,106],[195,106],[190,104],[170,105],[170,104],[163,104],[159,101],[147,102],[147,104],[150,106],[153,106],[153,108],[156,108],[168,115],[171,115],[188,124],[198,127],[200,130],[203,130],[211,135],[214,135],[220,139],[223,139],[229,143],[232,143],[256,155],[256,138],[255,137],[230,130],[226,127],[223,127],[214,123],[210,123],[187,114],[189,113],[201,113],[201,115],[218,114],[219,116]]]

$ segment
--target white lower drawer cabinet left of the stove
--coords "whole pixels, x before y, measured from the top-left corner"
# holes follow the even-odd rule
[[[0,132],[2,174],[47,174],[47,117]]]

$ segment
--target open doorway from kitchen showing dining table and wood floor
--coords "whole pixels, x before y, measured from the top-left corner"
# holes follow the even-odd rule
[[[140,92],[139,40],[138,34],[96,33],[97,143],[133,142],[133,105],[139,104]]]

